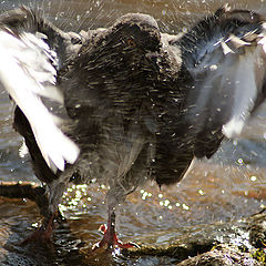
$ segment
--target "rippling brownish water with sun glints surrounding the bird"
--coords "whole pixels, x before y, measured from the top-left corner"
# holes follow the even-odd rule
[[[232,1],[233,2],[233,1]],[[18,3],[41,7],[50,20],[63,29],[88,29],[110,24],[126,12],[146,12],[160,20],[163,31],[178,32],[192,21],[221,6],[222,1],[88,0],[88,1],[1,1],[1,10]],[[266,10],[262,1],[234,1],[237,7]],[[18,157],[21,139],[13,132],[12,105],[0,94],[0,180],[37,181],[28,158]],[[265,112],[262,111],[260,115]],[[265,116],[265,115],[264,115]],[[260,126],[258,126],[260,124]],[[119,209],[117,231],[123,239],[134,241],[154,231],[208,224],[256,213],[265,203],[264,120],[250,124],[248,140],[224,143],[211,162],[197,162],[177,185],[147,184],[127,197]],[[252,137],[252,140],[250,140]],[[255,140],[255,141],[254,141]],[[222,163],[221,163],[222,162]],[[40,225],[30,201],[0,198],[1,265],[173,265],[171,258],[124,258],[93,254],[91,246],[101,238],[98,227],[106,221],[106,188],[96,184],[73,186],[64,194],[61,211],[68,222],[55,228],[54,250],[20,247],[19,243]],[[167,238],[162,239],[162,243]]]

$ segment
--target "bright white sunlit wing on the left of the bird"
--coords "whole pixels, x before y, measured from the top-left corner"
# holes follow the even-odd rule
[[[79,149],[42,101],[63,103],[63,95],[55,86],[57,52],[48,35],[39,32],[40,21],[25,8],[0,18],[0,83],[27,116],[43,158],[57,172],[64,170],[65,162],[75,162]]]

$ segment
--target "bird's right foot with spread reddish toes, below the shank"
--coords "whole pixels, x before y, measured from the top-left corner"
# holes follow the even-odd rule
[[[99,231],[103,234],[103,238],[101,242],[98,242],[96,244],[93,245],[92,247],[93,250],[98,248],[112,249],[115,247],[119,247],[121,249],[139,248],[139,245],[136,245],[135,243],[132,242],[123,243],[122,241],[120,241],[115,232],[109,229],[106,225],[101,225]]]

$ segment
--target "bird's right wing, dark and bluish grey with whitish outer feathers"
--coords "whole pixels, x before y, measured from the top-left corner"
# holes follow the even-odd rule
[[[222,132],[239,135],[265,99],[266,20],[224,6],[192,28],[178,45],[191,80],[183,119],[196,140],[195,155],[208,157],[216,151],[206,152],[212,139]]]

